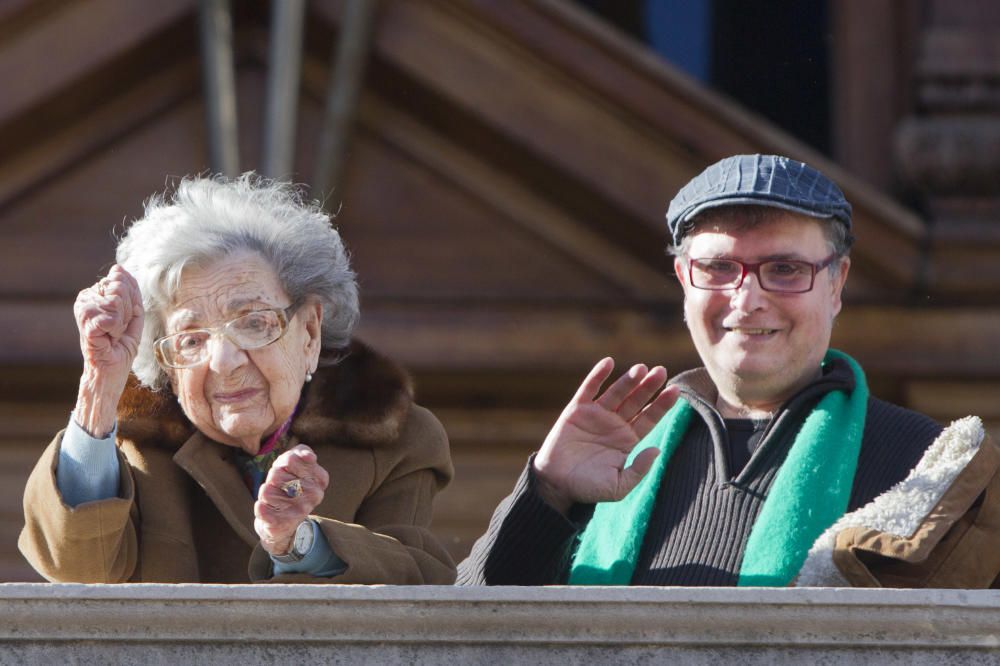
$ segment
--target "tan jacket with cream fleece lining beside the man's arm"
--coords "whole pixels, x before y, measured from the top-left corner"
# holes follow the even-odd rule
[[[809,551],[799,586],[1000,586],[1000,448],[968,417],[909,476],[843,516]]]

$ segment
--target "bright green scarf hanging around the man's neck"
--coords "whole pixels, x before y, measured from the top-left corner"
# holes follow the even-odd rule
[[[788,457],[771,485],[744,550],[739,585],[788,585],[809,548],[847,510],[868,410],[868,385],[861,366],[830,349],[824,364],[840,359],[854,373],[854,391],[831,391],[806,417]],[[602,502],[580,535],[570,567],[570,585],[628,585],[632,581],[660,480],[684,440],[694,409],[683,398],[635,449],[627,464],[656,447],[652,469],[620,502]]]

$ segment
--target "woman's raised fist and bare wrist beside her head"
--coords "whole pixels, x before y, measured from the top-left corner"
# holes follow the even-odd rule
[[[75,417],[92,436],[104,437],[114,428],[118,399],[142,337],[139,284],[116,264],[77,295],[73,314],[83,352]]]

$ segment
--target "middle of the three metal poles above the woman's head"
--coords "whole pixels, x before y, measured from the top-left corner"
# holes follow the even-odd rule
[[[264,111],[264,154],[261,173],[288,179],[295,159],[295,124],[302,67],[302,25],[305,0],[272,3],[271,45]]]

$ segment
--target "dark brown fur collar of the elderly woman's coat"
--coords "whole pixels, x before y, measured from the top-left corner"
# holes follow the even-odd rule
[[[394,441],[413,403],[409,376],[358,341],[330,364],[336,358],[324,356],[313,380],[306,384],[292,434],[310,445],[336,442],[377,447]],[[118,402],[118,433],[176,449],[195,433],[195,427],[172,393],[151,391],[130,375]]]

